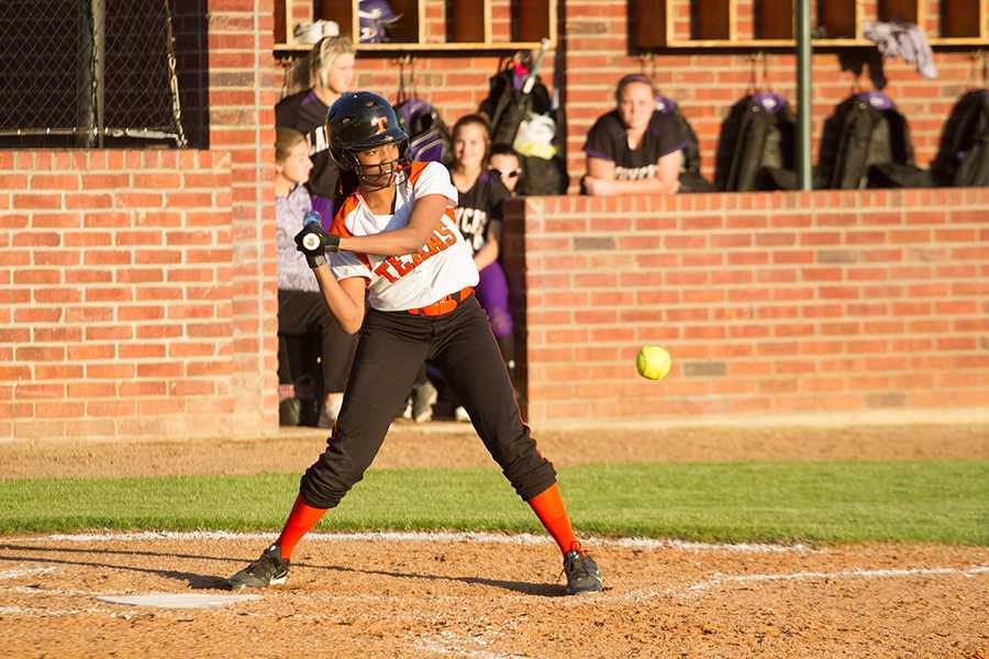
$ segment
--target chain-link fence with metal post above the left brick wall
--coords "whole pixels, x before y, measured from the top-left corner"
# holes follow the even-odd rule
[[[169,0],[0,0],[0,144],[186,146]]]

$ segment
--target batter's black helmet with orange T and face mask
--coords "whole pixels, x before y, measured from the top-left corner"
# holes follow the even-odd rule
[[[376,93],[357,91],[340,97],[326,114],[330,127],[330,157],[341,171],[353,171],[362,186],[380,190],[392,185],[407,165],[409,135],[391,104]],[[398,157],[365,165],[358,153],[387,145],[398,147]]]

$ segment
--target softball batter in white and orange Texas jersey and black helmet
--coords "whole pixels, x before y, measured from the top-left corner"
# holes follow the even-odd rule
[[[330,154],[342,172],[340,203],[331,234],[311,224],[296,243],[333,315],[346,332],[359,330],[360,342],[326,450],[303,474],[278,540],[231,577],[230,588],[285,582],[296,545],[364,477],[395,410],[432,359],[559,546],[567,592],[600,591],[598,567],[580,549],[556,472],[522,423],[498,344],[471,294],[477,267],[454,221],[457,191],[448,171],[404,160],[408,135],[377,94],[344,94],[327,123]]]

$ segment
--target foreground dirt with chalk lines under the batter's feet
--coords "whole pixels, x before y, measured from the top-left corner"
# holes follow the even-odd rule
[[[274,537],[274,536],[271,536]],[[13,657],[987,657],[989,550],[591,544],[608,590],[560,596],[548,544],[316,539],[284,588],[218,611],[101,603],[207,592],[269,538],[0,541]]]

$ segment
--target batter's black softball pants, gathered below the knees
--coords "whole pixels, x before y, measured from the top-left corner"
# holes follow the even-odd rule
[[[368,311],[336,426],[326,450],[302,477],[299,492],[305,503],[334,507],[364,478],[426,359],[443,371],[523,501],[556,482],[553,465],[522,423],[488,319],[470,295],[442,316]]]

